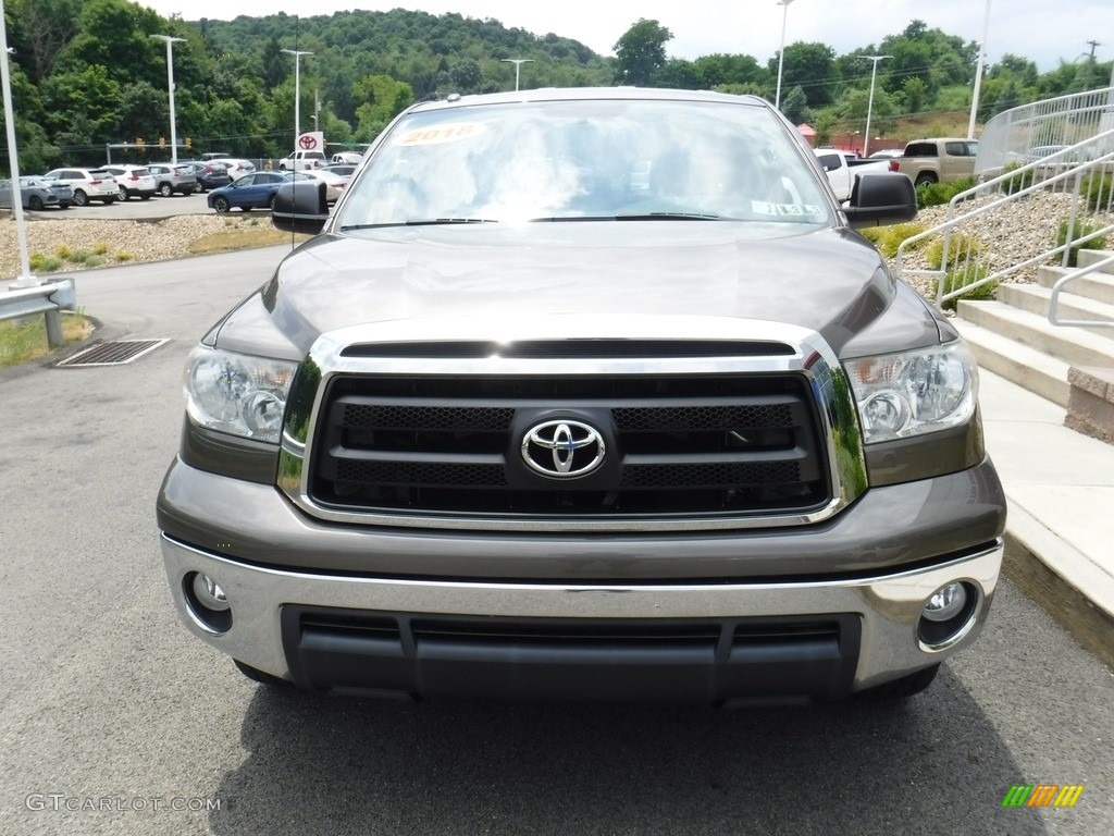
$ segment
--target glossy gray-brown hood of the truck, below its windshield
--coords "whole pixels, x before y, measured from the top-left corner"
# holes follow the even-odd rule
[[[235,350],[237,333],[252,332],[244,342],[258,352],[260,317],[304,356],[320,334],[350,325],[687,315],[790,323],[820,332],[841,353],[892,307],[897,286],[854,233],[785,230],[654,221],[326,234],[292,253],[258,300],[229,315],[217,340]],[[926,343],[939,340],[919,300],[903,309],[891,327],[905,347],[918,332]]]

